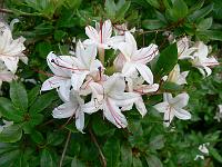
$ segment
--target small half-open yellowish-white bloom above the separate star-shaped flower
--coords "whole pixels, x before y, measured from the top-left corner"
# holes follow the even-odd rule
[[[164,76],[163,80],[165,81],[170,81],[170,82],[174,82],[176,85],[184,85],[186,84],[186,76],[188,76],[189,71],[183,71],[180,72],[180,66],[175,65],[175,67],[173,68],[173,70],[169,73],[169,76]]]

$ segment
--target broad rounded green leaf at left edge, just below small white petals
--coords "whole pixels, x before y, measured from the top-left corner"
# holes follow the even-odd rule
[[[20,125],[12,125],[2,130],[0,134],[1,143],[16,143],[22,137],[22,129]]]

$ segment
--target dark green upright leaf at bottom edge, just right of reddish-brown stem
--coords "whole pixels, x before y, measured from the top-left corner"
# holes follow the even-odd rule
[[[104,144],[103,150],[108,166],[117,166],[120,157],[120,141],[114,138],[110,138]]]

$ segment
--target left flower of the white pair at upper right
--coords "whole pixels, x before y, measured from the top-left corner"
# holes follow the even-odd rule
[[[190,43],[191,41],[188,37],[183,37],[176,42],[179,59],[193,59],[192,53],[196,50],[196,48],[190,47]]]

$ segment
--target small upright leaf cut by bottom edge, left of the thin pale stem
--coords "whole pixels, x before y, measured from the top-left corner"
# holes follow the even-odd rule
[[[41,153],[41,167],[53,167],[52,155],[48,149],[43,149]]]

